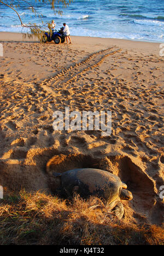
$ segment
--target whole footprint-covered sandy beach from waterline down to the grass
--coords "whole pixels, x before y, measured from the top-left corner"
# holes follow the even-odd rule
[[[163,57],[160,44],[71,37],[40,44],[0,32],[0,185],[52,193],[51,173],[112,172],[133,194],[126,221],[163,223]],[[54,131],[53,113],[112,111],[112,133]],[[46,163],[60,155],[56,166]],[[84,158],[85,156],[85,158]]]

